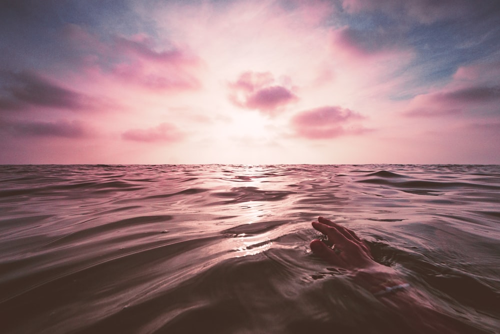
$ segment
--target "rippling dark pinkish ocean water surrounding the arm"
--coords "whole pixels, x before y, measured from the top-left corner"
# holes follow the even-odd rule
[[[0,166],[2,333],[389,333],[324,216],[464,332],[500,332],[500,166]]]

